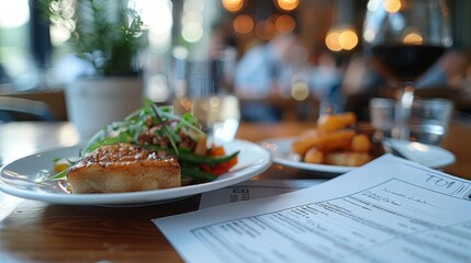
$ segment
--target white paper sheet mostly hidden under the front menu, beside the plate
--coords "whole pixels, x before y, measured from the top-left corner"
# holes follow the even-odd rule
[[[256,199],[324,183],[326,179],[305,180],[250,180],[229,187],[211,191],[201,195],[200,209],[235,202]]]

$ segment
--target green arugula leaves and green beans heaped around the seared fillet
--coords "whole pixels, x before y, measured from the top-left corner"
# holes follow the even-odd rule
[[[201,164],[215,165],[224,163],[235,158],[239,152],[236,151],[225,157],[208,157],[195,155],[189,148],[179,147],[182,140],[180,133],[184,133],[193,140],[198,140],[206,134],[199,127],[199,119],[191,113],[184,113],[181,116],[173,114],[172,106],[158,106],[149,99],[144,99],[144,104],[141,108],[131,113],[122,122],[114,122],[104,127],[100,133],[90,139],[85,152],[80,152],[80,159],[88,152],[97,150],[106,145],[120,142],[136,144],[142,134],[145,134],[150,128],[157,126],[156,136],[165,137],[170,142],[171,147],[148,146],[143,147],[154,150],[164,150],[178,157],[182,176],[193,178],[197,180],[211,181],[215,175],[200,169]],[[70,162],[75,164],[76,162]],[[67,169],[68,170],[68,169]],[[67,170],[61,171],[47,180],[64,179],[67,175]]]

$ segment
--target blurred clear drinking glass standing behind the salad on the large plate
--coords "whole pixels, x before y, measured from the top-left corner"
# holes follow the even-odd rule
[[[236,50],[220,47],[204,56],[191,57],[186,49],[173,50],[173,108],[192,113],[216,144],[235,138],[239,101],[233,94]]]

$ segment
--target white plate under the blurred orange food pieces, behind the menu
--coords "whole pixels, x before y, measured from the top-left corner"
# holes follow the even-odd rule
[[[261,142],[261,146],[273,156],[273,162],[292,167],[305,171],[317,172],[324,176],[336,176],[356,167],[340,167],[340,165],[328,165],[328,164],[315,164],[306,163],[301,161],[301,157],[291,150],[291,145],[295,138],[271,138],[266,139]],[[396,142],[397,144],[397,142]],[[450,151],[430,145],[424,145],[418,142],[405,141],[399,144],[401,146],[401,153],[407,159],[418,162],[423,165],[441,169],[455,162],[455,155]]]

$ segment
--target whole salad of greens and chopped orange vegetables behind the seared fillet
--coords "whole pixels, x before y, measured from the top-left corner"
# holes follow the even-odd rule
[[[176,115],[171,106],[157,106],[150,100],[130,114],[123,122],[115,122],[93,136],[81,157],[101,146],[128,142],[144,148],[164,150],[175,155],[180,163],[181,174],[198,181],[212,181],[237,163],[238,151],[226,155],[224,147],[211,145],[208,135],[199,127],[192,114]],[[64,179],[68,167],[76,162],[60,164],[59,173],[49,180]],[[59,168],[59,167],[58,167]]]

